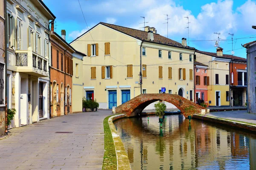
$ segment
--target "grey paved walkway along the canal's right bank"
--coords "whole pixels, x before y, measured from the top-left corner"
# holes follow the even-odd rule
[[[223,119],[248,122],[256,125],[256,114],[247,113],[246,110],[211,112],[209,114],[206,114],[206,116],[214,116]]]

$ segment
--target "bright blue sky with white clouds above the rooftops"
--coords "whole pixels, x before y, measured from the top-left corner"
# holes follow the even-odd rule
[[[66,40],[71,42],[87,31],[78,0],[44,0],[56,16],[57,33],[67,31]],[[157,33],[167,37],[166,16],[169,14],[168,37],[181,41],[188,39],[186,16],[189,17],[189,46],[201,51],[215,52],[215,40],[220,32],[220,46],[224,54],[246,58],[241,44],[256,40],[255,0],[80,0],[88,27],[99,22],[111,23],[135,29],[146,25],[155,27]],[[61,4],[61,5],[60,5]],[[198,41],[199,40],[199,41]],[[211,41],[208,41],[211,40]]]

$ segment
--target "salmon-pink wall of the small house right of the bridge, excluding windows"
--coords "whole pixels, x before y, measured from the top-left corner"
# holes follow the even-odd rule
[[[204,68],[198,68],[198,69],[199,69],[199,72],[196,72],[196,68],[195,68],[194,81],[196,82],[196,76],[200,76],[200,85],[195,85],[195,98],[196,98],[196,92],[200,92],[200,99],[201,99],[201,92],[203,92],[204,93],[204,102],[206,102],[206,104],[208,104],[208,90],[207,90],[207,85],[204,85],[204,76],[207,76],[207,73],[209,70],[207,70],[207,73],[205,73]],[[195,99],[195,100],[197,100],[197,99]]]

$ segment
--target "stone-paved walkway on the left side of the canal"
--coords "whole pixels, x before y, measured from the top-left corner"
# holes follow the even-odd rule
[[[0,140],[0,170],[101,170],[108,115],[75,113],[9,130]]]

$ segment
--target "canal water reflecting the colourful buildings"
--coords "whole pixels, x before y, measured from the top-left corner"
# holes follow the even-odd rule
[[[114,122],[132,170],[256,170],[256,135],[169,115]]]

